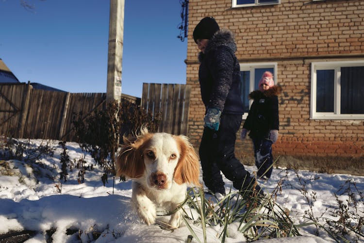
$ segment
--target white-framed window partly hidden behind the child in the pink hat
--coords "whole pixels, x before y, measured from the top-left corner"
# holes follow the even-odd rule
[[[277,75],[277,63],[249,63],[240,64],[240,82],[241,82],[241,100],[244,104],[244,119],[248,116],[249,107],[252,101],[249,101],[248,95],[251,91],[258,89],[259,80],[265,71],[270,71],[274,76],[274,84]]]

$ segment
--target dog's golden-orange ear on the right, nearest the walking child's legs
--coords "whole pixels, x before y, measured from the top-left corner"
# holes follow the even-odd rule
[[[200,187],[199,183],[199,158],[185,136],[175,136],[178,147],[180,148],[180,159],[174,170],[174,181],[177,184],[193,184]]]

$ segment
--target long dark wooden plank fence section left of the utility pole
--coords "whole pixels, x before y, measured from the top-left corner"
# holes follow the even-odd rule
[[[72,116],[101,108],[105,93],[33,89],[28,83],[0,85],[0,134],[14,138],[72,140]]]

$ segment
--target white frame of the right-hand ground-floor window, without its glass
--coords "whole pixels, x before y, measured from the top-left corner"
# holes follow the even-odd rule
[[[341,68],[364,66],[364,60],[335,61],[335,62],[312,62],[311,63],[311,112],[310,119],[317,120],[361,120],[364,114],[340,114],[341,94]],[[317,70],[334,69],[334,111],[316,112],[316,82]]]

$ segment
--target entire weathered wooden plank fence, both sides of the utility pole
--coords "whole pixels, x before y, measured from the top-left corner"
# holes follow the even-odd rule
[[[140,99],[122,94],[140,104]],[[34,89],[29,83],[0,84],[0,135],[13,138],[73,141],[73,114],[85,119],[105,108],[105,93],[67,93]],[[160,113],[159,132],[187,134],[190,87],[177,84],[143,84],[142,107]]]

